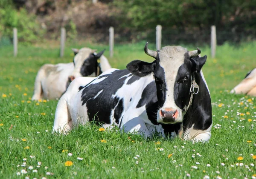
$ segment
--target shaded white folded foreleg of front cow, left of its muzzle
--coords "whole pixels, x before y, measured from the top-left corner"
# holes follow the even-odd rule
[[[140,117],[134,117],[130,120],[124,120],[121,124],[121,131],[137,133],[145,138],[151,137],[150,132],[144,122]]]

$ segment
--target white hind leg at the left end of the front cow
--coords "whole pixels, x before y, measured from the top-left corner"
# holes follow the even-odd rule
[[[52,132],[67,134],[73,128],[65,94],[58,102]]]

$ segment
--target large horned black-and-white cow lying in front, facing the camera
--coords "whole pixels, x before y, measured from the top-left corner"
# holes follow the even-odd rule
[[[127,69],[110,69],[96,78],[71,82],[58,102],[53,131],[64,132],[96,120],[104,128],[115,124],[121,130],[147,137],[163,136],[208,141],[212,107],[202,66],[207,56],[199,48],[187,51],[166,46],[145,53],[152,63],[134,60]]]

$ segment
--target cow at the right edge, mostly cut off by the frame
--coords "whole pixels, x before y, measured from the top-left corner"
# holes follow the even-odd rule
[[[244,80],[242,80],[230,93],[247,94],[256,97],[256,68],[249,71]]]

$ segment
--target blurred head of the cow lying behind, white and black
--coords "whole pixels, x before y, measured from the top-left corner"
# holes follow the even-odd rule
[[[96,50],[90,48],[81,48],[80,50],[72,48],[72,50],[75,54],[73,60],[75,68],[68,77],[70,82],[77,77],[95,77],[97,73],[99,74],[99,64],[97,60],[102,56],[105,50],[98,54],[95,52]]]

